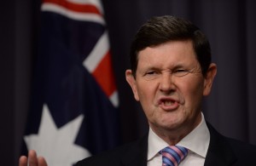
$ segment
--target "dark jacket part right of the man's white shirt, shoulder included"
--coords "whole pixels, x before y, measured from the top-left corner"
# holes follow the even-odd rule
[[[207,123],[210,145],[205,165],[256,165],[256,146],[218,133]]]

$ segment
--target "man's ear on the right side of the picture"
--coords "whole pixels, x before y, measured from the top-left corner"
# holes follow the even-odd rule
[[[211,89],[212,89],[212,82],[213,82],[213,79],[216,76],[216,74],[217,74],[217,66],[216,66],[216,64],[212,63],[212,64],[210,64],[210,66],[207,70],[207,75],[205,76],[203,95],[210,94]]]

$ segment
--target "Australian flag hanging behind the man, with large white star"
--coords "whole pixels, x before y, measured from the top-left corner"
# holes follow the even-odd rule
[[[24,142],[50,166],[119,144],[119,100],[98,0],[44,0]]]

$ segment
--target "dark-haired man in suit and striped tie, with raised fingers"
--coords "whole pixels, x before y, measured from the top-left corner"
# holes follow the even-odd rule
[[[255,146],[218,134],[201,112],[217,66],[200,29],[177,17],[154,17],[137,32],[130,55],[125,77],[143,106],[148,134],[77,165],[256,165]],[[29,156],[35,165],[46,164],[35,152]]]

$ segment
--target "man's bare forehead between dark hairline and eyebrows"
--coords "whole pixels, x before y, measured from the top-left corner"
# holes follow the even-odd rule
[[[143,49],[138,54],[138,66],[142,64],[165,65],[167,63],[197,62],[195,49],[190,40],[172,41]]]

